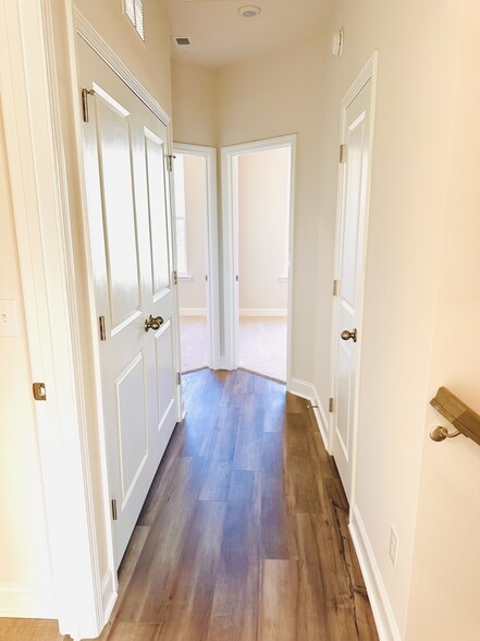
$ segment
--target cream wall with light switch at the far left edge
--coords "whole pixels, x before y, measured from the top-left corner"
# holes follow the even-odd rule
[[[0,299],[14,299],[19,314],[19,336],[0,337],[0,616],[5,608],[22,606],[52,616],[50,554],[1,110],[0,211]]]

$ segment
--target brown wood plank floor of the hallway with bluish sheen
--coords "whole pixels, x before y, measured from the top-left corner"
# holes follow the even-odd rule
[[[184,394],[101,641],[376,641],[306,401],[244,371],[189,374]],[[41,634],[4,638],[60,639]]]

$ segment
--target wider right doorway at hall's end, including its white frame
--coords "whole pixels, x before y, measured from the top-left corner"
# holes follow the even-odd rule
[[[295,143],[222,149],[226,368],[287,384]]]

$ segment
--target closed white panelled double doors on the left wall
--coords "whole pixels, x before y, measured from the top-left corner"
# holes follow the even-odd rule
[[[119,565],[176,420],[168,131],[82,39],[78,51],[94,92],[85,186]]]

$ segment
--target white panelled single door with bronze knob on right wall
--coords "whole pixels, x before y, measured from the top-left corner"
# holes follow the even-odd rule
[[[352,498],[357,403],[357,351],[369,184],[370,78],[344,99],[343,152],[336,233],[336,298],[333,322],[333,443],[332,453],[347,495]],[[354,85],[355,86],[355,85]],[[347,95],[348,96],[348,95]]]

